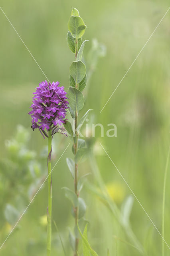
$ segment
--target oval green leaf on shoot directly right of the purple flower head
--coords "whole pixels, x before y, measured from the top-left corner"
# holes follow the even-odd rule
[[[83,108],[84,96],[80,90],[70,86],[67,92],[67,97],[68,97],[69,105],[73,111],[79,111]]]

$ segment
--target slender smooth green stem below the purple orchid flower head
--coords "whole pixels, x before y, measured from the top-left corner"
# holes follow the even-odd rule
[[[51,255],[51,212],[52,212],[52,181],[51,181],[51,130],[48,132],[48,207],[47,207],[47,256]]]

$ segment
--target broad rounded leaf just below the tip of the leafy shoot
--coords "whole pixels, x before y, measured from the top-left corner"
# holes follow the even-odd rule
[[[79,16],[71,16],[68,22],[69,32],[73,38],[81,38],[85,32],[87,26],[85,26],[83,19]]]

